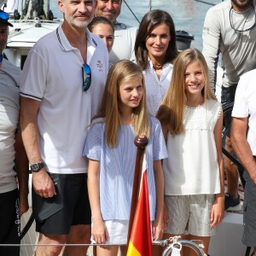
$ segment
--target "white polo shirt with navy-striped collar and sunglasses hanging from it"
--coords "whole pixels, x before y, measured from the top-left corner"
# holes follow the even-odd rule
[[[41,101],[38,111],[40,152],[49,172],[83,173],[87,125],[96,114],[108,74],[108,50],[86,30],[90,89],[83,91],[83,58],[61,26],[30,50],[20,81],[20,96]],[[84,79],[86,74],[84,73]]]

